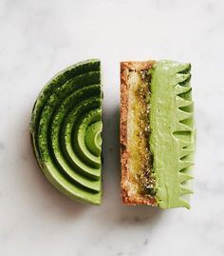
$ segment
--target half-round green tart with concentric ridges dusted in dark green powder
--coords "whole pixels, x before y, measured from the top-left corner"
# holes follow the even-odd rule
[[[101,204],[102,82],[99,60],[54,76],[31,113],[31,142],[48,181],[66,196]]]

